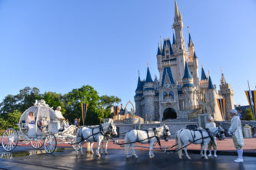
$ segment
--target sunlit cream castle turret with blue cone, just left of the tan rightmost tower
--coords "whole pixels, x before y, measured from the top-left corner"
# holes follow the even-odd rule
[[[221,111],[218,108],[217,103],[217,93],[213,83],[211,82],[210,75],[208,81],[208,91],[205,93],[205,102],[208,116],[212,116],[216,121],[222,121],[223,119],[221,116]]]

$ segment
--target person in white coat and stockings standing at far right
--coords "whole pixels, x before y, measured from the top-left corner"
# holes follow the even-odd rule
[[[230,114],[232,116],[231,126],[228,129],[228,134],[232,136],[234,147],[238,152],[238,159],[235,159],[234,162],[244,162],[243,159],[243,146],[244,146],[244,137],[243,132],[241,130],[241,120],[238,116],[237,110],[231,110]]]

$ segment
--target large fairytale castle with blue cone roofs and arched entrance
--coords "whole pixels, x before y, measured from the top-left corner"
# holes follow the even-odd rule
[[[181,12],[175,0],[175,18],[172,28],[172,44],[164,38],[164,44],[158,45],[159,80],[152,80],[148,67],[146,80],[138,76],[135,90],[135,114],[155,121],[166,119],[188,121],[197,110],[213,116],[214,120],[230,119],[229,110],[234,109],[231,85],[226,83],[221,74],[220,90],[211,81],[210,74],[201,67],[201,79],[198,76],[198,57],[194,51],[194,43],[189,33],[188,51],[183,38],[183,22]],[[225,116],[221,115],[217,99],[224,98]]]

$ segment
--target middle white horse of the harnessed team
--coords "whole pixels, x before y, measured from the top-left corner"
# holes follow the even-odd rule
[[[138,155],[135,153],[135,142],[140,143],[150,143],[149,158],[153,159],[155,157],[153,153],[153,146],[155,142],[160,142],[160,139],[164,138],[168,141],[168,136],[171,136],[168,126],[161,126],[154,129],[148,130],[136,130],[133,129],[125,134],[125,154],[126,158],[130,158],[128,155],[129,149],[131,149],[132,156],[138,159]]]

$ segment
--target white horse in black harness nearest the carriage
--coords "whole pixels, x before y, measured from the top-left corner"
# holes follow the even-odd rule
[[[93,154],[94,153],[92,149],[93,144],[94,142],[98,142],[96,155],[100,157],[101,155],[99,154],[99,149],[101,146],[101,141],[104,140],[105,136],[109,136],[109,135],[115,135],[115,136],[117,135],[116,126],[112,121],[108,123],[103,123],[95,128],[81,127],[80,129],[77,130],[77,133],[76,133],[76,144],[75,144],[76,154],[78,155],[78,145],[81,145],[81,153],[83,152],[82,146],[84,145],[85,141],[90,142],[91,151],[89,152]]]

